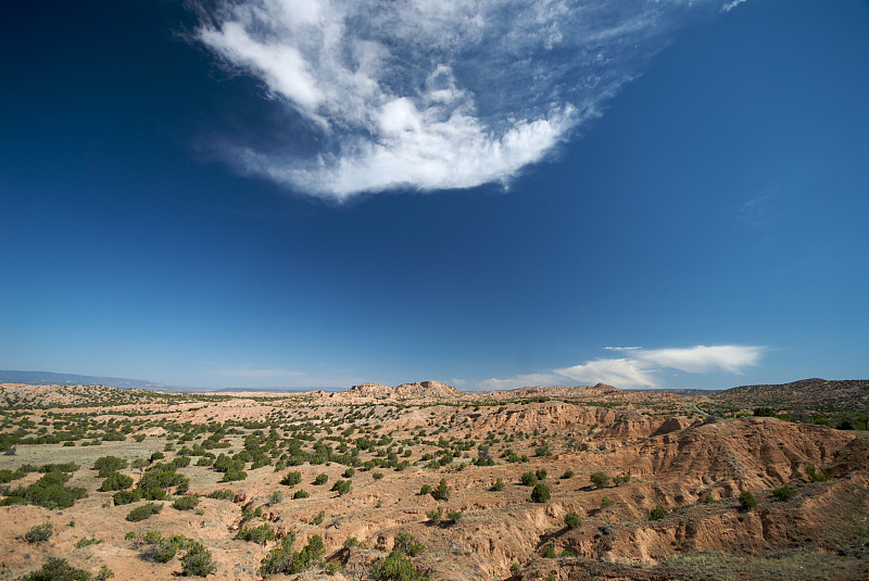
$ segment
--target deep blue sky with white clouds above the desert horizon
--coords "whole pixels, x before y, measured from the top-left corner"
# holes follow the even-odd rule
[[[869,4],[613,4],[16,3],[0,368],[868,377]]]

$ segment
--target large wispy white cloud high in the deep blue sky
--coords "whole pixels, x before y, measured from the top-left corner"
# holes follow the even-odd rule
[[[230,142],[333,200],[507,182],[634,78],[696,0],[216,0],[197,39],[305,124]]]

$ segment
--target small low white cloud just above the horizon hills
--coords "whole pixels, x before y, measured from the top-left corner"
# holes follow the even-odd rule
[[[757,365],[766,351],[757,345],[695,345],[678,349],[605,348],[625,352],[626,357],[600,358],[581,365],[553,369],[550,374],[487,379],[481,389],[514,389],[526,386],[608,383],[618,388],[655,388],[658,374],[676,369],[689,374],[741,374]]]

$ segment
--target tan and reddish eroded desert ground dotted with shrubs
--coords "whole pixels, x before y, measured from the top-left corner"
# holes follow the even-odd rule
[[[61,509],[0,507],[0,579],[27,579],[49,557],[95,577],[103,566],[122,580],[182,574],[182,552],[155,560],[148,531],[201,543],[214,563],[209,579],[262,579],[263,559],[291,534],[294,551],[318,535],[323,560],[268,579],[414,579],[371,567],[402,533],[425,546],[411,560],[432,580],[869,579],[869,435],[698,413],[720,401],[603,384],[477,393],[426,381],[231,395],[2,384],[0,470],[73,462],[66,485],[87,496]],[[48,443],[27,443],[39,438]],[[245,443],[268,464],[245,462],[242,480],[202,462]],[[315,457],[324,446],[325,460]],[[152,462],[158,452],[165,457]],[[159,514],[130,521],[146,501],[116,504],[114,492],[97,490],[98,458],[126,460],[119,472],[135,487],[156,463],[190,452],[177,473],[189,479],[181,492],[200,496],[191,509],[174,508],[180,495],[168,489]],[[281,483],[290,471],[298,484]],[[527,472],[549,498],[532,500]],[[595,484],[599,472],[607,479]],[[314,483],[319,475],[326,483]],[[331,490],[342,480],[349,490]],[[423,493],[441,480],[446,497]],[[209,497],[221,489],[234,497]],[[293,497],[300,490],[308,496]],[[756,506],[740,503],[744,492]],[[47,522],[52,534],[28,542]],[[236,539],[265,525],[277,539]]]

